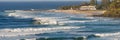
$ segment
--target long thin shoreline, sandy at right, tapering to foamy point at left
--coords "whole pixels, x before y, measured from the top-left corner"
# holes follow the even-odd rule
[[[56,10],[56,9],[50,9],[50,10],[6,10],[8,12],[37,12],[37,11],[45,11],[45,12],[61,12],[61,13],[67,13],[67,14],[85,14],[87,16],[96,16],[96,15],[102,15],[105,10]]]

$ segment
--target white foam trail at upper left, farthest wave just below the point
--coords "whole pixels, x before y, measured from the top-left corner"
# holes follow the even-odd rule
[[[8,16],[12,16],[12,17],[18,17],[18,18],[47,18],[47,19],[61,19],[62,17],[47,17],[47,16],[44,16],[42,17],[43,15],[42,14],[38,14],[38,13],[9,13]]]

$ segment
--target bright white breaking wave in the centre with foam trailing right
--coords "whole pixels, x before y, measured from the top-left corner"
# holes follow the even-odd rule
[[[85,23],[85,22],[93,22],[97,20],[60,20],[60,19],[54,19],[54,18],[33,18],[33,20],[36,20],[36,24],[42,24],[42,25],[64,25],[66,23]]]

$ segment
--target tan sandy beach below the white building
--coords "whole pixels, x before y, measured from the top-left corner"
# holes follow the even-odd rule
[[[87,16],[101,15],[105,10],[47,10],[48,12],[62,12],[68,14],[86,14]]]

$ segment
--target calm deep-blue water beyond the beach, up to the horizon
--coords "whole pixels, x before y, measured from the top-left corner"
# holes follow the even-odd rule
[[[69,2],[0,2],[0,10],[56,9],[65,5],[79,5],[81,1]]]

